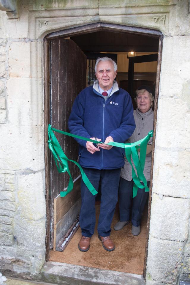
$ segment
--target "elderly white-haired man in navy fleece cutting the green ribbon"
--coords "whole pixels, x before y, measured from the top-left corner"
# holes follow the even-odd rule
[[[96,190],[101,179],[101,204],[98,237],[107,251],[114,250],[110,239],[111,222],[118,201],[121,167],[124,166],[124,149],[107,145],[110,141],[124,143],[134,129],[133,106],[129,93],[118,88],[114,80],[116,63],[108,58],[98,58],[95,65],[97,80],[94,86],[82,90],[77,96],[68,121],[71,133],[104,142],[77,139],[78,161]],[[80,251],[88,251],[95,227],[95,198],[81,181]]]

